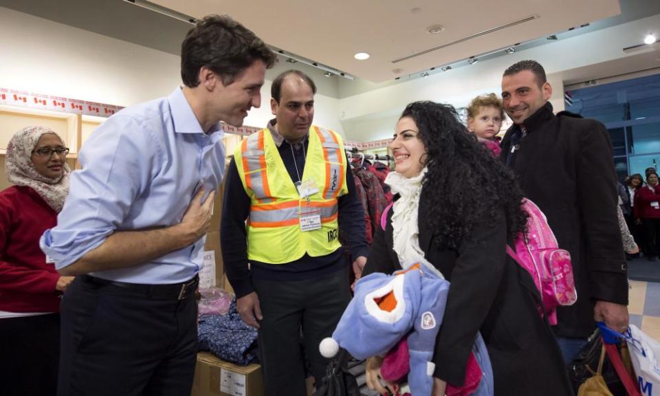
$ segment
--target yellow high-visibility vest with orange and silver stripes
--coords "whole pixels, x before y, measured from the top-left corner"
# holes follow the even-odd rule
[[[253,133],[234,151],[236,168],[250,197],[248,259],[290,263],[305,253],[325,256],[340,248],[337,198],[349,192],[344,142],[337,133],[309,128],[302,181],[313,180],[318,192],[300,197],[268,129]],[[300,217],[320,216],[320,228],[303,231]]]

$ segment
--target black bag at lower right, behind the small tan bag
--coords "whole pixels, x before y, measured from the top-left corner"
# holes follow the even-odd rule
[[[600,360],[600,355],[603,350],[603,338],[601,336],[600,330],[596,331],[591,335],[588,342],[579,353],[573,358],[571,365],[569,366],[569,377],[571,379],[571,384],[573,385],[573,390],[575,395],[577,395],[577,389],[580,388],[580,385],[588,380],[588,378],[593,376],[593,373],[597,371],[598,362]],[[626,392],[626,387],[621,378],[617,374],[612,362],[608,358],[604,360],[603,369],[601,375],[605,380],[610,392],[615,395],[628,395]]]

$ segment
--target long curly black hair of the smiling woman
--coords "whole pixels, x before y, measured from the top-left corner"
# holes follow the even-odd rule
[[[505,210],[509,239],[525,230],[527,214],[514,174],[467,131],[454,107],[412,102],[404,117],[415,121],[426,146],[421,160],[428,172],[420,199],[429,203],[426,222],[439,248],[458,249],[474,226],[499,208]]]

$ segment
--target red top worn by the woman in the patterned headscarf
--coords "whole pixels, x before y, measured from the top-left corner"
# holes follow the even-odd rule
[[[60,311],[60,275],[39,248],[41,234],[56,223],[57,213],[32,188],[0,192],[0,311]]]

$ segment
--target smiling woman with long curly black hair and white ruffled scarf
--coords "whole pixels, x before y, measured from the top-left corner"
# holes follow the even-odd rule
[[[538,290],[505,251],[527,221],[512,173],[444,104],[408,104],[390,146],[396,168],[386,183],[396,201],[374,236],[364,275],[426,261],[450,281],[433,394],[463,385],[481,331],[495,395],[572,395],[558,344],[538,314]],[[380,362],[369,360],[367,384],[383,392]]]

